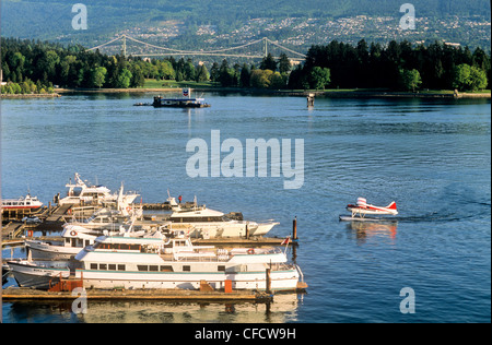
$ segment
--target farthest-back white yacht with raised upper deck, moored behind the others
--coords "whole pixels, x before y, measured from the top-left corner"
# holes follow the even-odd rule
[[[81,178],[78,172],[75,172],[75,182],[70,182],[66,185],[69,189],[67,192],[67,197],[60,199],[58,202],[60,205],[67,204],[102,204],[104,202],[117,202],[118,194],[112,193],[112,191],[104,186],[87,186]],[[121,186],[122,191],[122,186]],[[126,204],[131,204],[133,200],[138,197],[137,193],[128,193],[122,195],[122,201]]]

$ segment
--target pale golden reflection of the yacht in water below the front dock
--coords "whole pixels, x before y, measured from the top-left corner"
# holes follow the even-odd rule
[[[271,304],[89,300],[87,312],[78,318],[89,323],[285,323],[297,321],[298,298],[277,294]]]

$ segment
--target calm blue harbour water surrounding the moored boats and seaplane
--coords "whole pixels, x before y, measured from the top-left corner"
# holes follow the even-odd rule
[[[247,219],[274,218],[286,236],[297,216],[307,294],[263,305],[3,302],[3,322],[490,322],[490,100],[329,99],[206,94],[206,109],[133,107],[142,95],[3,99],[2,197],[31,190],[45,204],[75,171],[144,202],[175,197]],[[190,139],[304,139],[304,185],[281,177],[190,178]],[[223,154],[225,156],[226,154]],[[339,222],[358,197],[398,223]],[[16,252],[22,255],[23,252]],[[10,255],[10,250],[3,250]],[[10,284],[14,284],[11,279]],[[401,313],[411,287],[415,312]]]

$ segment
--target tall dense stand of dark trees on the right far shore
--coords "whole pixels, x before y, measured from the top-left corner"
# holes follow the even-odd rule
[[[481,48],[471,52],[437,41],[412,47],[407,40],[391,40],[384,47],[362,39],[353,47],[333,40],[307,51],[304,67],[291,74],[290,87],[313,87],[309,78],[316,68],[330,70],[330,87],[469,91],[490,88],[491,56]]]

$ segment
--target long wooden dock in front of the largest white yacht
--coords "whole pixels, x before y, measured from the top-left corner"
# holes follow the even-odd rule
[[[270,302],[272,295],[256,292],[200,292],[185,289],[134,289],[134,290],[102,290],[86,289],[89,300],[171,300],[171,301],[251,301]],[[75,299],[80,297],[71,292],[46,292],[33,288],[8,287],[2,290],[4,300],[49,300]]]

